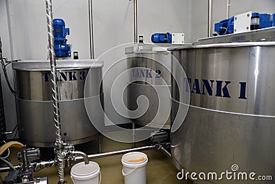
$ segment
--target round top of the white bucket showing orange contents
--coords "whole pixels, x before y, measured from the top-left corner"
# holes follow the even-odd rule
[[[124,154],[122,156],[122,165],[125,165],[127,167],[133,166],[142,166],[146,165],[148,162],[147,155],[142,152],[129,152],[127,154]]]

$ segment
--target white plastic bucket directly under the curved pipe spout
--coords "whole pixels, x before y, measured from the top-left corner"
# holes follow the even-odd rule
[[[77,163],[72,167],[71,178],[74,184],[99,184],[101,182],[100,167],[98,163]]]

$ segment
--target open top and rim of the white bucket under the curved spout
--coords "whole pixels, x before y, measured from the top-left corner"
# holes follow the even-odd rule
[[[96,174],[96,172],[99,172],[99,170],[100,167],[98,163],[90,161],[89,164],[85,165],[84,162],[80,162],[72,167],[71,174],[76,176],[87,176]]]

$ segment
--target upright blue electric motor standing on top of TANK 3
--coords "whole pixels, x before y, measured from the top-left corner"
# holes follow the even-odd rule
[[[71,57],[71,45],[67,44],[67,35],[69,35],[69,28],[65,28],[65,21],[63,19],[54,19],[56,57]]]

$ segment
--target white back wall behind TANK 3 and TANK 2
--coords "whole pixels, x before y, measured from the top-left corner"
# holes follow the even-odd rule
[[[184,32],[186,41],[190,41],[189,1],[138,0],[138,34],[144,35],[144,41],[151,42],[151,34],[154,32]],[[0,23],[5,25],[0,30],[3,55],[9,59],[45,59],[47,55],[45,1],[0,0],[0,2]],[[5,3],[8,3],[8,8]],[[70,28],[67,43],[72,43],[73,50],[78,50],[80,59],[89,59],[88,0],[58,0],[52,3],[54,18],[65,19],[66,27]],[[104,60],[103,71],[106,72],[115,61],[125,57],[124,47],[131,44],[103,53],[115,46],[133,42],[133,1],[94,0],[93,17],[94,54],[96,58]],[[8,19],[10,19],[10,29],[8,29]],[[122,63],[120,70],[125,69],[126,63]],[[12,72],[10,69],[8,72],[12,81]],[[129,122],[113,111],[110,99],[106,98],[112,84],[110,81],[104,79],[105,110],[112,114],[117,122]],[[14,100],[3,77],[2,85],[5,116],[7,124],[12,127],[16,122]]]

